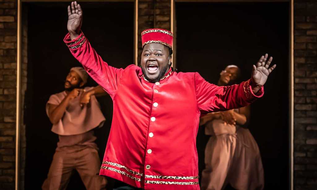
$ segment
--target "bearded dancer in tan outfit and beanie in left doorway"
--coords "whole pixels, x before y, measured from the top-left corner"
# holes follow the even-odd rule
[[[42,189],[66,189],[73,170],[86,189],[105,189],[107,180],[99,175],[101,163],[92,130],[105,121],[95,96],[106,93],[100,86],[81,88],[87,77],[82,67],[73,67],[66,77],[65,91],[51,95],[47,102],[46,113],[59,142]]]

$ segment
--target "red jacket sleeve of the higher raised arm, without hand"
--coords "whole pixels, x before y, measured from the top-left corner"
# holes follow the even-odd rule
[[[64,42],[73,56],[83,65],[90,77],[113,98],[120,86],[120,79],[124,70],[109,66],[104,62],[94,48],[91,47],[82,32],[74,40],[70,39],[68,33],[64,38]]]

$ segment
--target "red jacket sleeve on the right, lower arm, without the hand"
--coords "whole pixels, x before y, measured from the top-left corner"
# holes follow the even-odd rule
[[[250,79],[232,86],[217,86],[195,73],[195,90],[200,111],[217,112],[245,107],[264,94],[262,87],[256,95],[252,92]]]

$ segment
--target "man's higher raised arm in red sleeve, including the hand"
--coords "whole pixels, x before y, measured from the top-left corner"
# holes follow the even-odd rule
[[[113,98],[120,86],[123,69],[109,66],[92,48],[81,32],[83,11],[75,1],[68,6],[68,34],[64,42],[73,56],[83,65],[87,73]]]

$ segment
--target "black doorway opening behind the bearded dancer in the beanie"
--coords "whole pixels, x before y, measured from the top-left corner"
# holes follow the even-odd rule
[[[67,34],[67,6],[70,3],[23,3],[28,9],[28,68],[24,122],[26,124],[25,189],[41,189],[47,177],[58,136],[51,132],[45,104],[49,96],[64,90],[69,69],[81,66],[71,55],[63,38]],[[133,64],[134,3],[81,3],[84,32],[94,49],[109,65],[125,68]],[[97,84],[89,79],[87,86]],[[109,96],[98,99],[106,117],[96,129],[100,159],[110,131],[113,103]],[[68,189],[85,189],[79,175]]]

